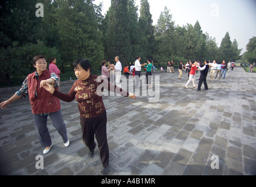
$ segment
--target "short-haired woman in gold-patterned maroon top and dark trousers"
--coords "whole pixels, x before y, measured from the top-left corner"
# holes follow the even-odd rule
[[[106,109],[102,100],[101,89],[103,87],[132,99],[136,99],[136,96],[110,84],[101,76],[91,75],[91,63],[87,59],[79,58],[74,62],[73,67],[78,80],[74,82],[68,94],[57,91],[48,82],[42,82],[41,86],[65,102],[71,102],[74,99],[78,102],[82,139],[89,148],[89,157],[93,157],[96,147],[95,135],[103,165],[101,174],[106,175],[109,165],[109,147],[106,134]]]

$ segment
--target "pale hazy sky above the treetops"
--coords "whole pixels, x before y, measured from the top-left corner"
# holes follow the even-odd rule
[[[102,14],[105,15],[111,0],[95,0],[94,4],[99,2],[103,2]],[[203,33],[215,37],[218,46],[229,32],[230,40],[236,39],[238,48],[243,48],[241,54],[246,51],[249,39],[256,36],[255,0],[148,0],[148,3],[153,25],[157,25],[160,13],[167,6],[175,26],[195,25],[198,20]],[[140,10],[140,0],[136,0],[136,5]]]

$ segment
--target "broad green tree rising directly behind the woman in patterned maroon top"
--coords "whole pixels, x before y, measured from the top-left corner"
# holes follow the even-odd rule
[[[92,73],[98,74],[103,58],[102,32],[99,30],[98,12],[92,1],[56,0],[56,20],[59,49],[66,65],[77,58],[88,58]]]

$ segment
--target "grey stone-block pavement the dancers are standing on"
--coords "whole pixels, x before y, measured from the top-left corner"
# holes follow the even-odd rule
[[[108,115],[109,175],[256,175],[256,74],[242,68],[226,79],[207,77],[209,90],[185,89],[188,75],[160,75],[160,99],[103,96]],[[196,74],[198,83],[199,74]],[[68,92],[72,84],[61,85]],[[202,85],[203,90],[203,85]],[[0,93],[0,102],[12,96]],[[1,175],[99,175],[99,150],[88,158],[77,102],[61,101],[70,146],[64,147],[49,117],[54,146],[43,155],[29,99],[0,110]],[[36,169],[43,155],[44,169]],[[219,169],[210,167],[212,155]]]

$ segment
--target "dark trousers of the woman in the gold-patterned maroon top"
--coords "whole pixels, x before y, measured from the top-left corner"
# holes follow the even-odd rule
[[[101,115],[92,119],[86,119],[80,116],[80,124],[82,127],[82,140],[90,151],[94,151],[96,143],[94,141],[94,135],[96,137],[99,154],[101,156],[101,162],[103,166],[109,165],[109,147],[106,135],[106,110]]]

